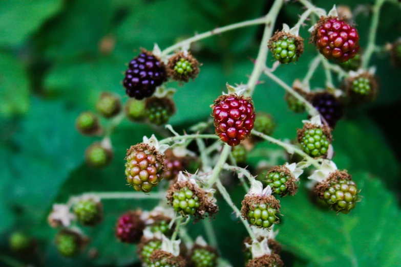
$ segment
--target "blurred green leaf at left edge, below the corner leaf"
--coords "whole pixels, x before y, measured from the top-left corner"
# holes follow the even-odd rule
[[[17,58],[5,52],[0,52],[0,88],[0,116],[9,117],[28,111],[29,81],[26,70]]]

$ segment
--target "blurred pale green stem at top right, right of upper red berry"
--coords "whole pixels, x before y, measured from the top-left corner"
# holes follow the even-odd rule
[[[362,68],[364,69],[368,68],[369,60],[376,48],[376,34],[380,18],[380,9],[382,8],[385,1],[386,0],[376,0],[373,6],[373,16],[368,36],[368,46],[362,58]]]

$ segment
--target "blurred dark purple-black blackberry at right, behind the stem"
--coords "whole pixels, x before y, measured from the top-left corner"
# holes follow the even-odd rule
[[[311,96],[311,103],[332,129],[337,124],[337,121],[343,117],[343,103],[330,93],[323,92],[313,94]]]

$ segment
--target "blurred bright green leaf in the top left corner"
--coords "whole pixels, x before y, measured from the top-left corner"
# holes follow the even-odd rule
[[[18,0],[0,2],[0,46],[24,42],[47,19],[56,14],[62,0]],[[1,61],[0,61],[1,62]]]

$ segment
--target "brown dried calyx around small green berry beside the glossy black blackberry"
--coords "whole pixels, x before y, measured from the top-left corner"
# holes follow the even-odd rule
[[[181,69],[183,70],[183,72],[178,71],[177,67],[180,62],[185,62],[185,64],[189,64],[191,71],[185,68]],[[167,75],[175,81],[188,82],[189,79],[194,80],[196,77],[198,77],[198,74],[200,72],[200,65],[201,64],[198,62],[198,60],[190,52],[179,52],[168,59]]]

